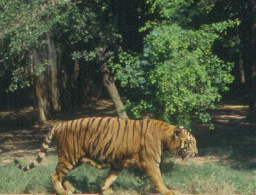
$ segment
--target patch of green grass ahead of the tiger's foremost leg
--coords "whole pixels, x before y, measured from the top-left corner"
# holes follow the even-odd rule
[[[164,167],[170,165],[174,171],[165,173],[164,181],[184,194],[251,194],[255,191],[253,171],[237,171],[230,166],[212,163],[201,166],[163,164]]]

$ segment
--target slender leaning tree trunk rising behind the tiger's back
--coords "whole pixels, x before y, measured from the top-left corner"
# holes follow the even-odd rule
[[[119,96],[118,90],[116,89],[116,85],[113,82],[113,78],[109,72],[108,66],[104,63],[100,67],[102,73],[103,84],[108,90],[111,101],[115,105],[116,112],[118,117],[122,119],[129,119],[127,113],[124,111],[124,105],[122,103],[122,99]]]

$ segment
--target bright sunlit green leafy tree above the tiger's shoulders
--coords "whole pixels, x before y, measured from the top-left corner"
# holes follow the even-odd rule
[[[192,18],[173,19],[184,12],[195,12],[189,10],[191,3],[156,1],[152,11],[161,13],[161,20],[146,25],[150,32],[144,40],[143,54],[134,57],[120,53],[119,62],[113,64],[115,79],[124,88],[127,110],[135,117],[152,113],[157,119],[187,127],[192,116],[209,122],[207,108],[220,100],[219,92],[228,90],[227,84],[233,80],[232,63],[214,55],[212,45],[237,22],[193,29],[188,26]]]

